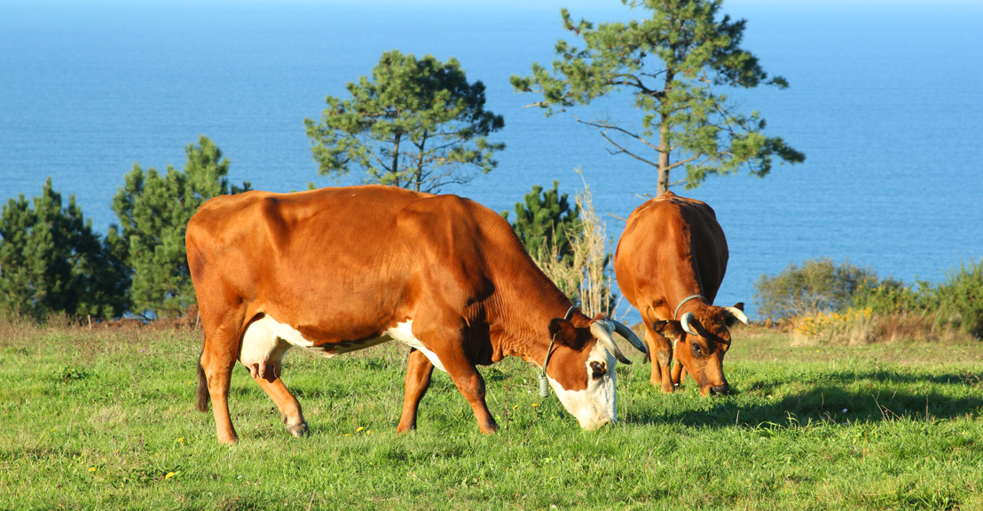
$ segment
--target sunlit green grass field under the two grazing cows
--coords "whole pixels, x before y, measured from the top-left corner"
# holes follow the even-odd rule
[[[284,379],[312,435],[291,437],[237,369],[232,447],[195,410],[201,341],[0,325],[0,509],[983,509],[977,341],[789,347],[744,330],[733,395],[665,395],[650,366],[619,366],[620,423],[598,431],[506,360],[483,369],[492,436],[439,371],[418,430],[397,435],[402,346],[294,351]]]

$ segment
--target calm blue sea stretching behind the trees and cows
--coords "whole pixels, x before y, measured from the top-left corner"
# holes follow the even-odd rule
[[[534,4],[534,5],[530,5]],[[931,5],[930,5],[931,4]],[[616,241],[655,192],[650,167],[613,155],[582,119],[638,123],[627,95],[546,118],[511,75],[549,64],[559,9],[594,22],[644,16],[617,0],[5,0],[0,14],[0,200],[74,195],[99,232],[135,164],[183,168],[205,135],[230,181],[289,192],[318,176],[304,119],[369,75],[382,52],[457,58],[505,119],[498,167],[443,191],[511,210],[534,184],[593,193]],[[790,84],[730,95],[805,152],[758,179],[711,177],[679,195],[716,210],[730,247],[718,303],[790,262],[829,256],[881,276],[942,281],[983,256],[983,6],[975,2],[730,0],[742,46]],[[582,169],[583,180],[576,173]],[[677,177],[676,177],[677,178]],[[637,318],[627,304],[622,318]]]

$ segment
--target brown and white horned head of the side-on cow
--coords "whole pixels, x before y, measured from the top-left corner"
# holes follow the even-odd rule
[[[645,343],[630,328],[604,314],[582,327],[558,317],[549,322],[549,334],[554,339],[547,366],[549,384],[559,402],[585,429],[617,422],[614,366],[631,361],[614,343],[614,332],[648,353]]]

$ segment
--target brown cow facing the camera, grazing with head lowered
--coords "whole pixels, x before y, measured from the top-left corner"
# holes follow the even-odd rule
[[[703,395],[730,391],[723,355],[730,348],[730,327],[747,324],[747,315],[744,304],[711,305],[726,268],[727,241],[706,203],[666,192],[628,216],[614,275],[625,299],[642,314],[649,351],[658,360],[652,384],[665,392],[679,384],[683,370]]]

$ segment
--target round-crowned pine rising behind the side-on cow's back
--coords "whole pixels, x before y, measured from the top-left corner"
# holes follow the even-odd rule
[[[304,121],[322,175],[364,171],[367,183],[438,192],[489,173],[505,147],[488,141],[505,123],[485,110],[485,85],[469,84],[454,58],[388,51],[348,91],[327,96],[319,123]]]

